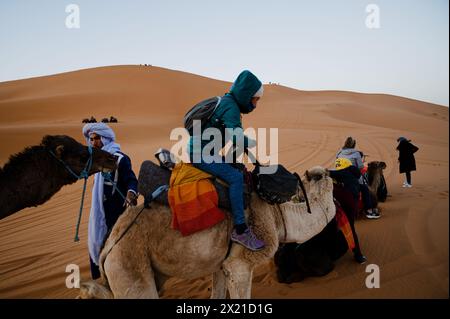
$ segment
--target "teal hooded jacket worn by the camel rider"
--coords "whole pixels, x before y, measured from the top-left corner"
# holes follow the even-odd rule
[[[250,71],[242,71],[231,86],[230,92],[222,96],[217,109],[211,116],[211,119],[202,127],[202,133],[204,130],[210,127],[218,128],[222,134],[222,147],[228,142],[225,140],[225,129],[242,128],[241,113],[247,114],[255,109],[252,103],[252,97],[260,89],[262,83],[258,78]],[[242,133],[243,135],[243,133]],[[233,137],[233,145],[236,146],[239,137]],[[249,146],[249,138],[243,136],[244,147]],[[204,146],[210,142],[210,140],[201,140],[199,143],[194,143],[192,137],[189,139],[188,150],[190,154],[199,153],[203,150]],[[197,147],[196,147],[197,146]],[[199,148],[200,146],[200,148]],[[217,154],[215,154],[217,155]]]

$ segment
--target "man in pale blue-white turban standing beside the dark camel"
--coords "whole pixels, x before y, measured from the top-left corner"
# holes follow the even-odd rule
[[[116,187],[105,180],[102,173],[95,174],[92,188],[92,204],[89,215],[88,246],[92,279],[100,277],[98,267],[100,250],[107,234],[128,205],[137,204],[137,179],[131,168],[130,158],[115,143],[113,130],[105,123],[86,124],[83,135],[92,147],[102,149],[117,157],[118,167],[111,180]],[[126,198],[124,199],[123,196]]]

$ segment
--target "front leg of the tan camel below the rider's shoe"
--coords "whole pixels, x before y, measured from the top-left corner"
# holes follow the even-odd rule
[[[224,261],[226,285],[231,299],[250,299],[253,267],[239,258]]]

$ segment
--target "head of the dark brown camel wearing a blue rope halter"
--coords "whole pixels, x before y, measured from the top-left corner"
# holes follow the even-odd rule
[[[46,135],[41,146],[52,151],[56,157],[79,174],[89,160],[88,147],[67,135]],[[92,167],[89,175],[97,172],[111,172],[116,169],[117,158],[105,151],[93,148]],[[60,165],[55,163],[55,165]]]

